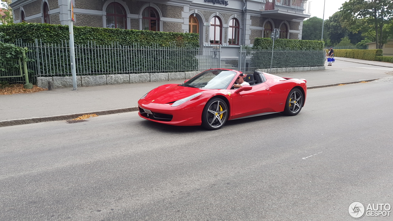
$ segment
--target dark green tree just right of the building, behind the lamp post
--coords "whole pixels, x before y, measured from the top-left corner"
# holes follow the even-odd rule
[[[311,17],[303,22],[303,40],[321,40],[322,18]],[[327,32],[323,31],[323,38],[327,39]]]

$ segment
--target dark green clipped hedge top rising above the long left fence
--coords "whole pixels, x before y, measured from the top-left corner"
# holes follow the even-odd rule
[[[0,25],[0,32],[6,34],[9,40],[22,39],[22,42],[33,43],[35,39],[42,39],[44,43],[59,43],[69,39],[68,26],[40,24],[40,23],[17,23]],[[74,26],[75,44],[86,44],[95,41],[96,44],[109,45],[119,42],[121,45],[139,43],[141,46],[158,44],[168,46],[191,45],[199,47],[199,35],[196,33],[176,33],[162,31],[139,31],[115,28],[93,28]]]

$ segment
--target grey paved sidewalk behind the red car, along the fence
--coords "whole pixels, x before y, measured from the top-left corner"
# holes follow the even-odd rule
[[[282,77],[304,78],[307,86],[343,83],[391,76],[392,68],[337,61],[325,71],[277,74]],[[163,84],[183,80],[96,87],[58,88],[34,94],[0,95],[0,121],[53,116],[79,112],[136,107],[147,92]]]

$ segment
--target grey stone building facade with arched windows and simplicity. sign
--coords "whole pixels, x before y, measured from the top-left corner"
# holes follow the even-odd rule
[[[68,24],[69,0],[13,0],[14,22]],[[200,46],[238,57],[256,37],[301,39],[307,0],[73,0],[75,26],[199,33]]]

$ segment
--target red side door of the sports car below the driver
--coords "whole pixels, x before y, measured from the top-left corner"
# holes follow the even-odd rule
[[[232,89],[232,119],[240,118],[252,114],[269,112],[271,93],[266,83],[252,85],[252,89],[236,93]]]

